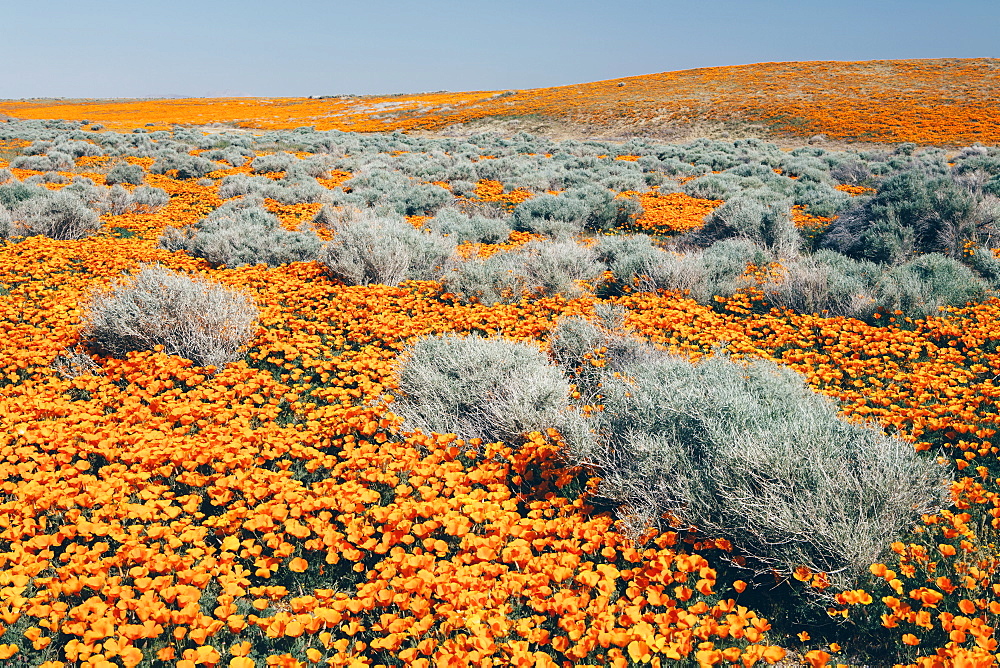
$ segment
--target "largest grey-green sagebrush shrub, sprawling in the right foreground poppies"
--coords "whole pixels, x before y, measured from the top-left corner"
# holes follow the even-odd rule
[[[600,372],[597,438],[571,444],[638,530],[665,514],[726,538],[761,569],[848,586],[946,498],[944,470],[847,422],[794,372],[717,353],[659,353]]]

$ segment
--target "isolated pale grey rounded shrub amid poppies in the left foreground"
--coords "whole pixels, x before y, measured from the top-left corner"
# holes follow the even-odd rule
[[[121,356],[163,346],[200,366],[223,367],[253,337],[257,307],[221,284],[144,267],[95,295],[86,305],[83,334],[102,352]]]

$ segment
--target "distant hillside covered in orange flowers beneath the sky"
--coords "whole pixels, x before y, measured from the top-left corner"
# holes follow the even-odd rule
[[[603,136],[684,136],[710,126],[775,136],[959,145],[1000,142],[1000,60],[785,62],[707,67],[531,90],[309,98],[21,100],[14,118],[374,132],[483,120],[571,123]]]

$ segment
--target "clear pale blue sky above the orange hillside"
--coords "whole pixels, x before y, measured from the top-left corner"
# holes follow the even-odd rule
[[[0,98],[534,88],[1000,56],[1000,0],[0,0]]]

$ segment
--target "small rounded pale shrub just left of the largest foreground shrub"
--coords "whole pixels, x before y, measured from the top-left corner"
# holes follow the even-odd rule
[[[445,334],[417,339],[400,357],[392,411],[406,429],[516,443],[526,433],[559,429],[586,440],[570,408],[570,386],[536,346]]]

